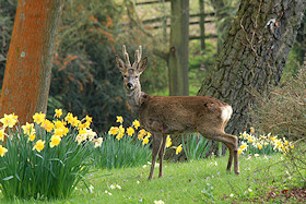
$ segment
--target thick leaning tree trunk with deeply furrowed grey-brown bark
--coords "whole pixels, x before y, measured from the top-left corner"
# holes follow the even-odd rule
[[[254,93],[264,95],[280,82],[305,5],[305,0],[242,0],[212,75],[198,93],[233,106],[228,133],[251,122]]]

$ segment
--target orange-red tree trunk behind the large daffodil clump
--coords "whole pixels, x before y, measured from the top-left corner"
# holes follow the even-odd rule
[[[9,48],[0,116],[32,121],[47,110],[56,31],[63,0],[20,0]]]

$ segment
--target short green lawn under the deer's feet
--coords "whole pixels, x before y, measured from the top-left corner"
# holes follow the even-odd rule
[[[151,181],[146,180],[149,166],[111,170],[93,169],[86,176],[87,183],[94,187],[93,193],[89,193],[86,187],[80,183],[78,190],[69,199],[50,202],[154,203],[162,200],[165,203],[227,203],[248,201],[268,191],[267,187],[286,188],[290,185],[286,169],[279,163],[281,158],[281,154],[274,154],[270,158],[240,156],[240,176],[226,172],[227,156],[190,163],[165,163],[164,177],[157,178],[158,169],[155,168],[154,178]],[[284,179],[287,181],[284,182]],[[119,184],[121,189],[110,189],[111,184]],[[249,192],[248,189],[252,191]],[[111,195],[105,191],[110,192]],[[231,197],[231,194],[234,196]],[[2,202],[4,201],[1,200]],[[14,203],[33,203],[33,201],[16,200]]]

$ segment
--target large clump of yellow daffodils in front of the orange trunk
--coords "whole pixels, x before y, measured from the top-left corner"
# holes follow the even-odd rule
[[[57,110],[56,117],[60,117]],[[4,115],[0,121],[0,183],[7,199],[64,199],[84,180],[93,143],[102,140],[90,128],[91,118],[79,121],[68,113],[52,122],[44,113],[35,123],[15,125],[17,117]],[[5,130],[5,131],[4,131]],[[86,140],[92,142],[86,142]],[[78,142],[78,144],[76,144]],[[99,143],[98,143],[99,142]]]

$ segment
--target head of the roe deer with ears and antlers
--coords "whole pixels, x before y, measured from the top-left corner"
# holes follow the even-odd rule
[[[139,49],[134,52],[134,62],[131,65],[131,62],[129,60],[129,55],[127,52],[126,46],[122,46],[122,55],[125,58],[123,62],[118,55],[116,55],[116,64],[123,76],[123,86],[126,91],[131,92],[137,88],[140,88],[140,81],[139,77],[146,68],[148,63],[148,57],[144,57],[141,59],[141,46],[139,46]]]

